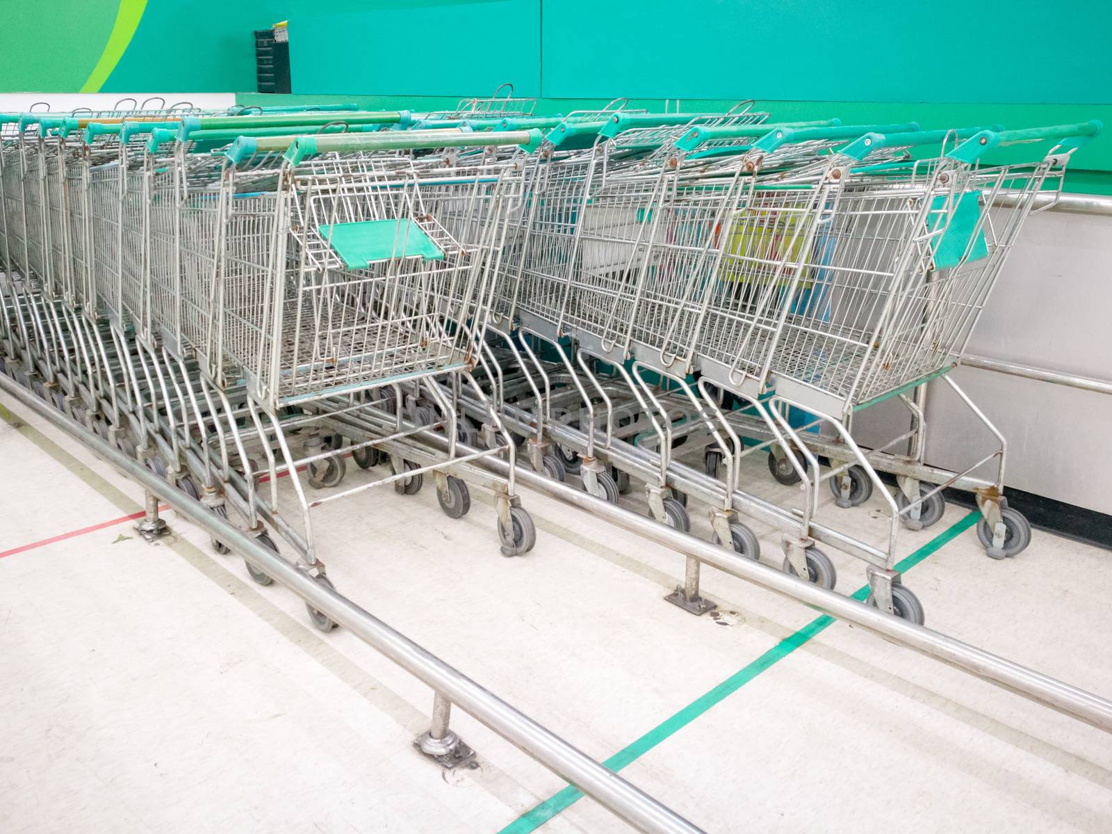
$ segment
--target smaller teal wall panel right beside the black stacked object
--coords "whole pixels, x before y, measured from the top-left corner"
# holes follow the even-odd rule
[[[290,16],[295,92],[540,94],[538,0],[374,0]],[[331,7],[329,11],[332,11]]]

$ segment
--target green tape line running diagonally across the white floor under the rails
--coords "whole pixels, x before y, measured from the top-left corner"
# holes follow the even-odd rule
[[[947,543],[953,541],[957,536],[969,530],[973,524],[975,524],[981,519],[981,513],[973,510],[971,513],[964,518],[956,521],[950,528],[943,532],[935,536],[926,544],[921,547],[915,552],[907,556],[905,559],[901,560],[896,565],[896,570],[901,573],[906,572],[911,568],[914,568],[921,561],[926,559],[932,553],[936,553]],[[868,597],[868,586],[863,586],[858,588],[853,593],[853,598],[858,601],[864,601]],[[747,683],[753,680],[757,675],[776,665],[785,657],[791,655],[797,648],[803,646],[805,642],[812,638],[820,635],[826,628],[835,622],[835,618],[830,615],[822,615],[811,620],[806,626],[801,628],[798,631],[785,637],[783,640],[777,642],[771,649],[765,651],[761,657],[756,658],[752,663],[742,667],[739,670],[731,675],[728,678],[718,684],[714,689],[711,689],[705,695],[693,700],[691,704],[685,706],[678,713],[664,719],[661,724],[657,724],[648,733],[643,735],[641,738],[635,740],[627,747],[618,750],[613,756],[607,758],[603,764],[609,769],[617,773],[626,765],[637,761],[651,749],[656,747],[661,742],[675,735],[683,727],[691,724],[693,720],[698,718],[705,712],[707,712],[715,704],[724,700],[727,696],[741,689]],[[552,820],[554,816],[559,814],[567,807],[570,807],[576,802],[583,798],[583,792],[573,785],[568,785],[563,791],[554,794],[553,796],[545,799],[539,805],[526,811],[522,816],[517,817],[514,822],[502,828],[498,834],[528,834],[528,832],[536,831],[546,822]]]

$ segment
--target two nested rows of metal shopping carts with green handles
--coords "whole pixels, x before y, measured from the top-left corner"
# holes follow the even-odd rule
[[[943,489],[975,493],[990,555],[1026,546],[1004,439],[949,371],[1099,122],[534,104],[0,116],[6,371],[326,583],[312,510],[426,474],[453,518],[490,489],[502,553],[528,552],[519,461],[614,502],[643,482],[682,529],[698,502],[754,559],[755,519],[827,588],[818,544],[858,557],[874,604],[920,622],[897,533],[937,521]],[[1042,153],[984,161],[1016,143]],[[926,463],[935,379],[997,441],[964,471]],[[911,428],[861,445],[854,415],[888,401]],[[754,454],[797,485],[766,489]],[[341,487],[349,459],[367,472]],[[823,481],[841,507],[877,492],[885,540],[821,519]],[[709,607],[693,570],[671,599]]]

